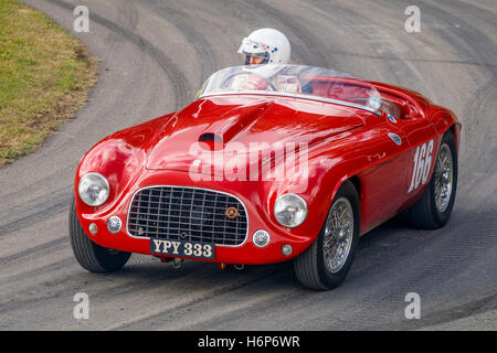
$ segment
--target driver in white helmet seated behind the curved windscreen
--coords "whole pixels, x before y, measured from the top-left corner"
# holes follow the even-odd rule
[[[231,88],[299,93],[299,83],[295,76],[281,75],[284,68],[282,65],[289,63],[290,52],[290,43],[282,32],[274,29],[252,32],[243,39],[237,50],[239,54],[245,56],[247,74],[236,76]]]

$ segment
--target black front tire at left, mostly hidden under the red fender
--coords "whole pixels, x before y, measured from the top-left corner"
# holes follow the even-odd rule
[[[126,265],[130,253],[118,252],[92,242],[81,227],[74,199],[68,214],[71,247],[80,265],[91,272],[114,272]]]

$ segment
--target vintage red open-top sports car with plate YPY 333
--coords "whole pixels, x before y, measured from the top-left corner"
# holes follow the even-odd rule
[[[183,109],[83,157],[72,248],[94,272],[131,253],[223,267],[293,259],[305,287],[330,289],[387,220],[447,222],[459,132],[451,110],[404,88],[310,66],[229,67]]]

